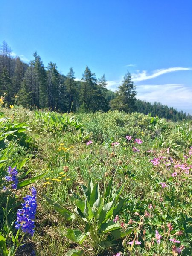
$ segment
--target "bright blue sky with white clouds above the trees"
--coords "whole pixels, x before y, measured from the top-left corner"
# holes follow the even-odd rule
[[[81,79],[86,65],[116,90],[129,70],[137,98],[192,113],[192,0],[1,1],[0,42]]]

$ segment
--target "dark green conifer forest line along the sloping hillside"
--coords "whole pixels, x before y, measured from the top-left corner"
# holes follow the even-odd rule
[[[53,62],[44,67],[37,52],[33,54],[33,60],[26,64],[18,56],[12,55],[12,50],[5,41],[0,47],[0,96],[4,96],[8,106],[14,103],[17,95],[17,104],[26,108],[35,106],[62,112],[118,109],[126,113],[151,113],[152,116],[158,115],[173,121],[192,119],[191,115],[160,103],[152,105],[137,100],[136,87],[129,72],[125,74],[116,93],[108,90],[106,85],[105,74],[97,79],[88,66],[81,81],[76,81],[72,67],[67,75],[63,75]]]

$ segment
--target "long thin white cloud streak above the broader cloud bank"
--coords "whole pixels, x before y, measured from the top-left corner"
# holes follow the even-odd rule
[[[154,70],[151,74],[149,74],[146,70],[142,70],[141,72],[140,70],[138,70],[136,74],[132,74],[132,80],[144,81],[144,80],[155,78],[157,76],[161,76],[166,73],[183,71],[183,70],[192,70],[192,68],[191,67],[169,67],[169,68]]]

